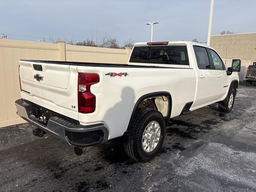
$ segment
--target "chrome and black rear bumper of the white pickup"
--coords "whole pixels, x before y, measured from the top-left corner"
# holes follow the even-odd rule
[[[17,114],[21,118],[72,146],[88,147],[105,143],[108,140],[108,129],[104,124],[84,126],[76,120],[65,118],[62,115],[58,116],[53,112],[55,116],[50,117],[45,125],[40,122],[40,119],[36,118],[36,114],[38,114],[36,113],[36,104],[19,99],[16,100],[15,105],[17,106]]]

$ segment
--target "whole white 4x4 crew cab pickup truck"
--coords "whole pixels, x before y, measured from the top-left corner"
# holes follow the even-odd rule
[[[227,68],[204,44],[136,43],[128,64],[20,60],[18,115],[48,133],[86,147],[123,136],[134,160],[150,161],[164,142],[170,118],[218,102],[230,112],[240,60]]]

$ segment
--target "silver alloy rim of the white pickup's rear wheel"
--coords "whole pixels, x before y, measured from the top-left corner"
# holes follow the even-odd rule
[[[142,135],[142,148],[145,152],[152,152],[160,139],[161,128],[157,121],[151,121],[145,128]]]

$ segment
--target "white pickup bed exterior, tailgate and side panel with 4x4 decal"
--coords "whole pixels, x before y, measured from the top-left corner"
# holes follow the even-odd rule
[[[42,66],[42,70],[34,66]],[[96,96],[96,109],[89,114],[78,112],[79,73],[99,76],[99,82],[90,88]],[[121,73],[127,75],[118,75]],[[171,93],[173,117],[180,115],[187,102],[194,101],[196,91],[193,68],[165,66],[20,60],[20,80],[22,98],[82,125],[103,123],[112,128],[108,139],[124,134],[142,96]]]

